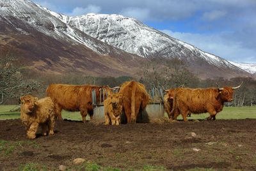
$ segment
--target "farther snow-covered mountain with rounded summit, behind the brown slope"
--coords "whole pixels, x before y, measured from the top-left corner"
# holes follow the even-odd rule
[[[138,20],[122,15],[88,13],[67,17],[49,11],[58,19],[109,45],[141,57],[178,57],[193,73],[203,78],[248,76],[227,60],[172,38]]]

